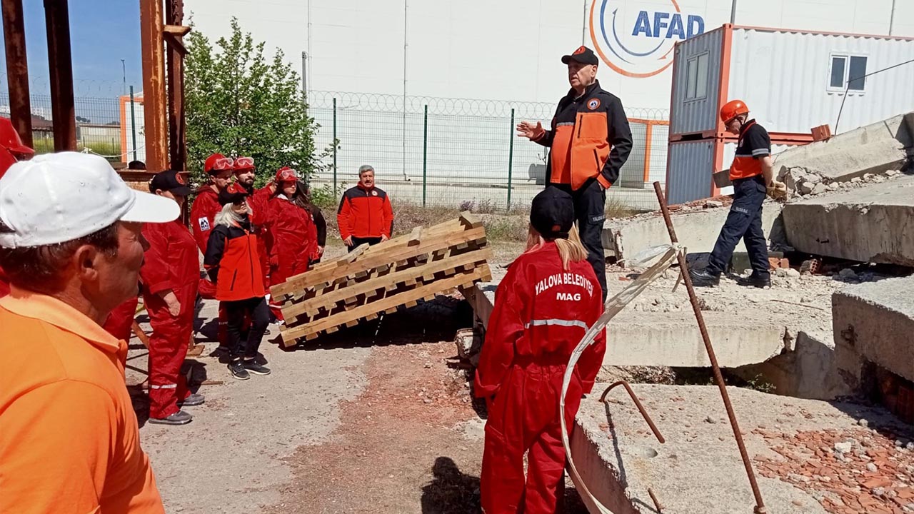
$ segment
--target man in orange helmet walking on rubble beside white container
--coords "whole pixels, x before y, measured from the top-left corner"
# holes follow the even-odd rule
[[[749,252],[752,274],[737,280],[740,285],[768,287],[771,273],[768,242],[761,230],[761,204],[769,190],[781,190],[771,167],[771,138],[759,123],[749,120],[749,107],[732,100],[720,108],[720,121],[730,134],[738,134],[737,153],[730,166],[733,204],[724,227],[717,236],[714,251],[704,270],[689,270],[696,286],[713,287],[720,283],[720,273],[727,268],[737,243],[742,239]]]

